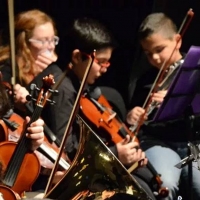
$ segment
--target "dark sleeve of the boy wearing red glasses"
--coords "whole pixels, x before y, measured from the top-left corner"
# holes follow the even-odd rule
[[[42,112],[42,118],[47,126],[54,132],[54,134],[61,141],[65,133],[69,117],[75,102],[76,92],[73,90],[68,79],[64,79],[58,88],[58,96],[54,96],[55,105],[47,105]],[[74,155],[77,148],[78,139],[76,134],[70,131],[67,136],[65,151],[68,154]],[[69,155],[70,157],[70,155]]]

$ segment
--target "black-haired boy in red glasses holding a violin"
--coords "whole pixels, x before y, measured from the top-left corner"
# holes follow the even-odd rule
[[[70,71],[58,87],[59,95],[54,96],[56,104],[54,106],[47,106],[42,114],[45,123],[57,134],[60,140],[65,132],[69,116],[74,106],[77,92],[88,64],[88,56],[94,49],[96,50],[95,60],[86,80],[87,86],[94,84],[97,78],[106,73],[110,66],[109,60],[115,46],[108,30],[98,21],[89,18],[75,20],[66,39],[67,42],[64,45]],[[45,69],[39,76],[43,76],[44,73],[48,73],[51,70],[55,70],[53,65]],[[39,83],[37,79],[34,82],[37,85]],[[78,145],[79,127],[75,122],[73,130],[67,137],[65,148],[72,160]],[[137,146],[137,142],[130,141],[130,137],[127,137],[110,148],[127,167],[140,160],[143,160],[142,165],[145,165],[147,163],[145,154],[141,149],[136,149]],[[60,175],[63,176],[63,173],[60,173]],[[152,199],[154,199],[147,184],[143,180],[140,181],[146,187]]]

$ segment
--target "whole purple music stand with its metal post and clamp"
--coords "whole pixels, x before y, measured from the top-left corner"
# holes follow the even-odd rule
[[[194,120],[194,114],[200,113],[200,47],[191,46],[184,63],[179,67],[176,76],[166,97],[155,114],[153,121],[173,120],[180,117],[186,117]],[[191,125],[188,126],[190,132]],[[192,134],[193,135],[193,134]],[[191,137],[191,135],[190,135]],[[193,136],[191,137],[193,138]],[[192,143],[188,143],[192,152],[187,158],[181,160],[175,167],[182,168],[195,159],[199,159],[199,150]],[[198,160],[197,160],[198,161]],[[199,162],[198,162],[199,164]],[[192,165],[188,165],[189,186],[192,183]],[[189,191],[192,199],[192,191]]]

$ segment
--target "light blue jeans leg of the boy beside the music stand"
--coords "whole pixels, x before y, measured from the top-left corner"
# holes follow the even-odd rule
[[[181,170],[174,167],[180,162],[179,155],[170,148],[154,146],[146,150],[146,156],[155,170],[161,174],[163,187],[169,189],[169,196],[164,200],[173,200],[177,196]]]

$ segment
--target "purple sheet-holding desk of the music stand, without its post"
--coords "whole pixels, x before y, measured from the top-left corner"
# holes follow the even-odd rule
[[[192,46],[179,67],[173,83],[153,121],[164,121],[184,116],[188,105],[194,114],[200,113],[200,47]]]

